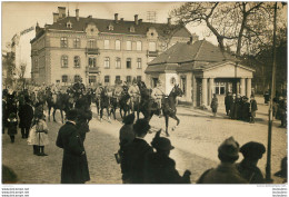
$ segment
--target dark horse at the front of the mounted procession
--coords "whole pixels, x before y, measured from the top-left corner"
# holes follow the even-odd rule
[[[153,115],[160,114],[158,110],[158,104],[153,101],[153,99],[150,97],[151,90],[141,87],[141,104],[140,104],[140,112],[144,116],[144,119],[150,121]],[[176,102],[177,102],[177,97],[181,97],[183,95],[182,90],[180,89],[179,85],[175,85],[172,88],[171,92],[169,96],[163,97],[162,99],[162,114],[165,116],[166,120],[166,135],[169,137],[168,132],[168,126],[169,126],[169,117],[177,120],[177,125],[172,127],[172,130],[176,129],[177,126],[179,126],[180,120],[176,116],[177,114],[177,108],[176,108]]]

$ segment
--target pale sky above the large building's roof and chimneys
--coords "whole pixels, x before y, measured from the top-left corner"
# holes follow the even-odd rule
[[[124,20],[134,20],[134,14],[139,19],[147,21],[147,12],[157,12],[157,22],[167,22],[168,13],[173,8],[178,8],[182,2],[2,2],[2,49],[11,41],[14,33],[20,32],[39,22],[40,27],[53,21],[52,12],[58,12],[58,7],[67,7],[70,16],[76,16],[78,8],[80,17],[92,16],[93,18],[113,19],[114,13]],[[191,32],[196,32],[200,39],[205,27],[188,27]],[[213,37],[206,38],[217,43]]]

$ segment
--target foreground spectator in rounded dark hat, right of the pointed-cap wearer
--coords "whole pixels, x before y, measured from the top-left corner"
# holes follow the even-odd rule
[[[237,169],[249,184],[265,184],[262,173],[257,167],[265,151],[265,146],[255,141],[247,142],[240,148],[243,159],[237,164]]]

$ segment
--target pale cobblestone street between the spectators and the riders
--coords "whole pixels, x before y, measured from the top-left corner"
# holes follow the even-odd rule
[[[230,120],[225,115],[223,106],[218,109],[218,116],[212,117],[209,110],[193,109],[179,106],[177,116],[180,126],[170,132],[170,140],[176,147],[171,157],[176,160],[177,169],[182,174],[186,169],[191,170],[191,181],[195,183],[208,168],[215,167],[218,160],[218,146],[228,137],[233,136],[242,146],[248,141],[262,142],[267,147],[268,106],[262,105],[261,98],[257,99],[258,112],[256,124]],[[113,154],[117,152],[118,135],[121,127],[119,111],[118,120],[108,122],[104,117],[100,122],[97,118],[96,107],[92,105],[93,119],[90,122],[90,132],[87,134],[84,147],[89,161],[91,180],[88,184],[121,184],[120,166],[116,162]],[[16,136],[16,142],[11,144],[7,132],[2,136],[2,162],[11,167],[23,184],[59,184],[62,161],[62,149],[56,146],[57,132],[61,126],[60,116],[57,112],[58,122],[49,122],[50,145],[46,147],[48,157],[32,155],[32,147],[21,138],[20,130]],[[169,129],[176,125],[170,119]],[[272,175],[279,170],[281,159],[287,155],[287,129],[278,128],[279,120],[273,122],[272,131]],[[165,118],[153,117],[151,120],[153,130],[165,128]],[[165,132],[162,132],[165,134]],[[151,141],[155,134],[148,134],[146,140]],[[241,156],[238,161],[241,160]],[[258,162],[265,174],[266,155]],[[275,183],[281,179],[273,177]]]

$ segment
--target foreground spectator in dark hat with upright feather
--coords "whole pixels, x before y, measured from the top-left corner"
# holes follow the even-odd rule
[[[190,184],[189,170],[180,176],[176,169],[176,161],[169,157],[175,148],[170,140],[160,137],[159,130],[151,141],[151,146],[157,150],[148,156],[146,167],[146,184]]]

